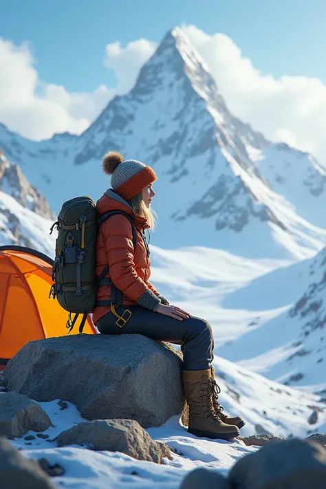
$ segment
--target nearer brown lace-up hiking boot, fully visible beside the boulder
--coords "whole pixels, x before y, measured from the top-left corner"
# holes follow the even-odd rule
[[[208,370],[184,370],[184,392],[189,405],[188,432],[198,437],[235,438],[237,426],[224,423],[213,406],[212,373]]]

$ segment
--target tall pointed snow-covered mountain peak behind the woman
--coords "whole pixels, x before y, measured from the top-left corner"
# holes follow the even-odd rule
[[[163,248],[204,245],[303,259],[326,243],[326,231],[268,184],[257,155],[273,145],[232,116],[178,28],[166,34],[130,93],[114,98],[80,137],[31,142],[0,127],[0,142],[56,211],[65,199],[97,199],[109,187],[100,168],[109,149],[151,164],[160,217],[153,242]]]

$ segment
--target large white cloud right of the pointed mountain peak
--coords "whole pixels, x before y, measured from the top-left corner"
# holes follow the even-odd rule
[[[228,36],[210,36],[195,25],[183,30],[235,116],[267,138],[310,151],[326,164],[326,86],[318,78],[263,75]]]

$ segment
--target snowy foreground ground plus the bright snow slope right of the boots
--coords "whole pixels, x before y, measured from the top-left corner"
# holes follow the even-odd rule
[[[215,369],[221,378],[219,384],[224,393],[226,411],[240,413],[246,418],[247,425],[241,430],[241,435],[264,431],[279,436],[295,435],[304,438],[311,433],[325,432],[326,413],[322,411],[325,405],[320,404],[316,396],[280,386],[221,358],[215,360]],[[54,424],[54,427],[44,432],[49,438],[39,438],[36,433],[29,431],[25,436],[33,435],[35,439],[25,441],[24,436],[14,439],[12,444],[21,448],[27,457],[45,457],[50,464],[62,466],[65,474],[53,479],[58,487],[152,488],[155,484],[157,488],[177,489],[186,473],[195,468],[215,469],[226,475],[237,459],[257,450],[256,447],[246,446],[239,439],[199,439],[186,431],[177,416],[160,428],[146,430],[153,439],[165,442],[175,452],[172,453],[172,459],[165,459],[162,465],[138,461],[121,453],[94,452],[80,446],[58,448],[54,442],[56,435],[84,420],[76,406],[69,402],[67,409],[63,410],[58,400],[39,404]],[[322,412],[314,426],[308,422],[313,409]]]

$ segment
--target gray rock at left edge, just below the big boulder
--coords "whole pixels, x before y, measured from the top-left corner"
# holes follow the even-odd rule
[[[17,392],[0,393],[0,435],[21,437],[28,431],[50,428],[50,417],[39,404]]]

